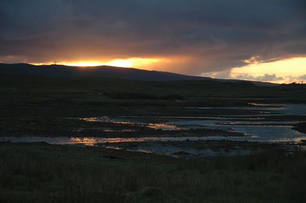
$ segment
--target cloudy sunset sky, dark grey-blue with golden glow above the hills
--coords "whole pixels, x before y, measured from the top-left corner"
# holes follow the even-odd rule
[[[0,62],[306,81],[305,0],[0,0]]]

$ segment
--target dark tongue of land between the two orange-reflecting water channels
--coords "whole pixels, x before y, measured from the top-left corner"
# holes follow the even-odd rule
[[[242,133],[218,129],[161,130],[138,124],[95,122],[80,119],[1,119],[0,136],[48,136],[48,137],[156,137],[156,136],[244,136]]]

